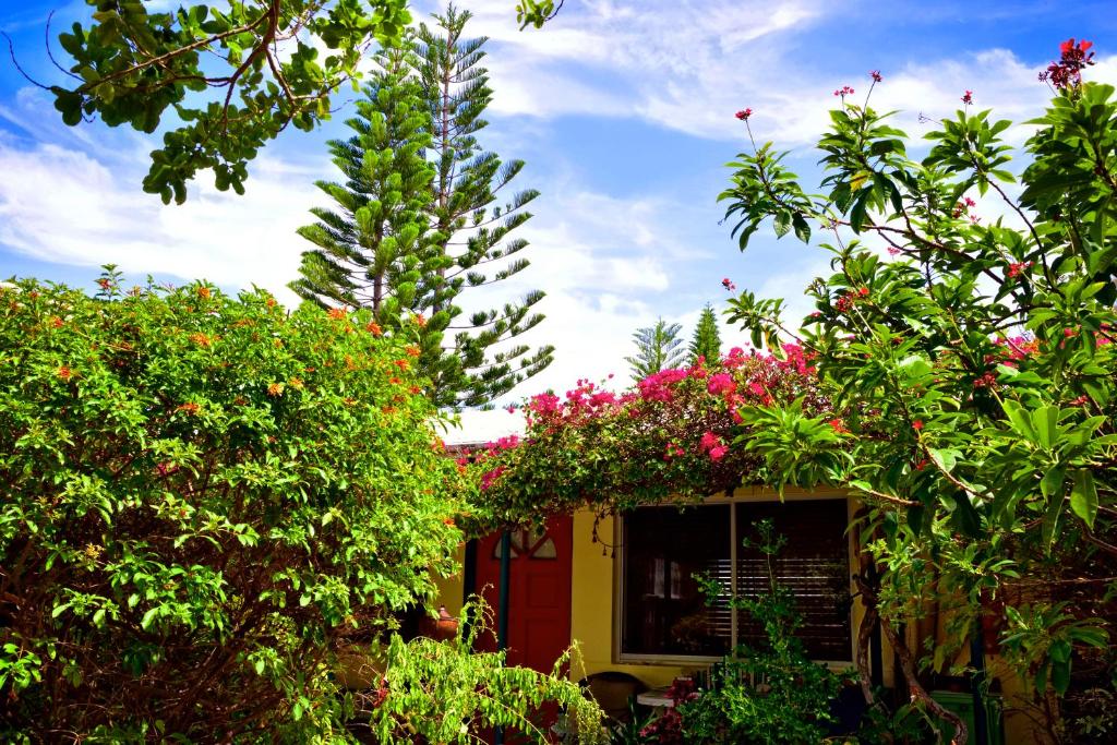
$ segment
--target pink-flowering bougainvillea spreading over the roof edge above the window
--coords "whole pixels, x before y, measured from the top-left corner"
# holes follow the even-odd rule
[[[655,373],[622,393],[583,380],[563,398],[534,395],[523,408],[523,441],[474,453],[488,519],[624,509],[758,483],[760,459],[729,448],[741,429],[738,409],[793,401],[828,410],[810,355],[795,345],[777,354],[737,347],[719,361]]]

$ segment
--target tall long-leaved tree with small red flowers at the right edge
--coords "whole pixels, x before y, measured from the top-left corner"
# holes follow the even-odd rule
[[[1113,674],[1117,591],[1117,101],[1082,80],[1090,46],[1068,40],[1041,75],[1054,96],[1019,153],[967,90],[914,157],[870,106],[873,71],[865,98],[837,92],[822,194],[752,140],[750,109],[737,116],[751,146],[722,194],[743,249],[771,220],[804,242],[821,230],[833,267],[810,284],[802,324],[748,292],[731,307],[757,344],[792,337],[812,355],[831,431],[798,404],[752,405],[735,446],[776,485],[865,499],[867,623],[916,698],[934,708],[919,666],[964,661],[984,623],[1063,742],[1077,736],[1058,700],[1073,669]],[[948,638],[909,644],[899,630],[933,610]]]

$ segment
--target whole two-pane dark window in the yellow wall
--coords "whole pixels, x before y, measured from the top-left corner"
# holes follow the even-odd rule
[[[799,636],[813,659],[851,655],[849,548],[844,499],[723,503],[641,507],[621,526],[620,653],[630,659],[720,657],[763,636],[746,612],[728,608],[733,594],[767,589],[767,563],[742,538],[771,519],[786,544],[773,562],[776,580],[795,594]],[[724,589],[706,604],[695,575]]]

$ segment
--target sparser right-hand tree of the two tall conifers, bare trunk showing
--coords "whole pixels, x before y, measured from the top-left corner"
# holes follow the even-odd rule
[[[449,259],[435,283],[436,309],[447,308],[468,288],[507,279],[527,268],[527,259],[519,256],[527,241],[509,233],[532,217],[525,207],[538,197],[534,189],[500,195],[524,162],[503,162],[477,141],[477,133],[488,124],[483,115],[493,92],[488,71],[480,66],[487,39],[462,37],[470,16],[451,3],[445,15],[433,16],[433,27],[419,26],[414,47],[433,126],[429,152],[436,169],[431,228],[439,237],[441,255]],[[505,200],[503,204],[498,195]],[[533,351],[516,342],[543,321],[543,315],[533,311],[543,297],[541,290],[534,290],[497,308],[476,303],[468,313],[452,308],[449,331],[454,340],[446,347],[461,360],[462,371],[458,379],[448,374],[436,378],[438,398],[483,405],[551,364],[553,346]]]

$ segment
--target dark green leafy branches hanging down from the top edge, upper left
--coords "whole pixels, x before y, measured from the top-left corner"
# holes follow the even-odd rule
[[[150,134],[173,120],[143,188],[179,203],[202,170],[241,193],[259,150],[288,126],[330,118],[364,56],[411,21],[407,0],[188,2],[173,12],[150,12],[143,0],[86,4],[90,22],[58,36],[68,84],[42,87],[71,126],[99,116]],[[561,7],[523,0],[516,15],[540,28]]]

